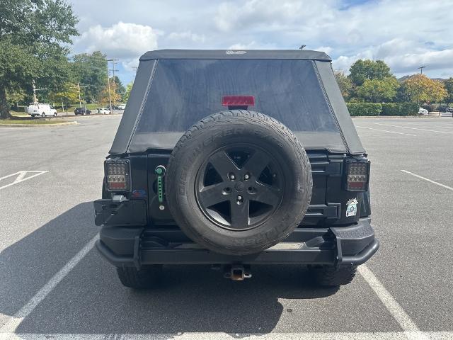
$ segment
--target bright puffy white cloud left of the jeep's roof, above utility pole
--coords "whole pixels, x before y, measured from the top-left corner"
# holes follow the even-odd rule
[[[81,34],[75,45],[85,52],[102,51],[108,57],[131,60],[138,58],[144,51],[155,50],[158,35],[161,34],[151,26],[120,21],[108,28],[91,26]]]

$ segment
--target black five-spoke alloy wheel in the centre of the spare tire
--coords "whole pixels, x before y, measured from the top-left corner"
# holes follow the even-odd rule
[[[285,191],[282,169],[256,145],[217,149],[197,172],[195,196],[203,214],[230,230],[253,229],[273,215]]]

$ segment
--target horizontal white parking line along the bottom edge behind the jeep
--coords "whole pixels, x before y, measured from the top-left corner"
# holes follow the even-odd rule
[[[409,339],[430,339],[430,340],[451,340],[453,331],[389,331],[389,332],[302,332],[302,333],[277,333],[268,334],[229,334],[221,332],[178,332],[173,334],[148,333],[148,334],[7,334],[8,339],[23,340],[148,340],[148,339],[178,339],[178,340],[407,340]],[[420,337],[418,337],[420,336]],[[0,336],[1,338],[1,336]],[[1,338],[3,339],[3,338]]]

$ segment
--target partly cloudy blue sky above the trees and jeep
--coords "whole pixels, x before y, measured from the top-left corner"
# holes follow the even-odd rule
[[[148,50],[297,49],[326,52],[348,73],[384,60],[396,77],[453,77],[453,0],[67,0],[79,17],[72,53],[118,59],[123,83]]]

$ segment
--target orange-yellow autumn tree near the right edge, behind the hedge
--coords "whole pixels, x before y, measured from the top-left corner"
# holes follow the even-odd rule
[[[414,103],[432,101],[438,103],[447,97],[447,90],[442,81],[432,80],[424,74],[415,74],[403,82],[403,89]]]

